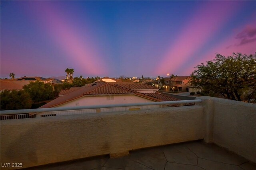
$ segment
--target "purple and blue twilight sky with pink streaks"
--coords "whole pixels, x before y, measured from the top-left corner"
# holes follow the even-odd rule
[[[256,1],[0,1],[0,76],[188,76],[256,52]]]

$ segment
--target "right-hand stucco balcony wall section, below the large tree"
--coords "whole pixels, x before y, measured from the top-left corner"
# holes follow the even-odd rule
[[[203,100],[207,114],[205,140],[256,162],[256,104],[207,96],[196,99]]]

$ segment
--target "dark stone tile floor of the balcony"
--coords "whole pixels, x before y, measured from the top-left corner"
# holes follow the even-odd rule
[[[256,164],[202,141],[130,151],[120,158],[97,156],[27,168],[31,170],[256,170]]]

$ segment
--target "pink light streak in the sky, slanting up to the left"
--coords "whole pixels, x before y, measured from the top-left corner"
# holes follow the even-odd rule
[[[88,35],[88,31],[83,30],[87,39],[82,39],[78,31],[76,32],[76,27],[70,24],[72,21],[69,18],[64,18],[60,10],[50,4],[45,4],[41,9],[43,10],[35,12],[39,14],[38,19],[42,27],[58,47],[68,54],[69,57],[64,60],[70,62],[70,66],[75,64],[86,74],[99,75],[102,72],[106,72],[102,57],[96,51],[96,47],[90,44],[92,37]],[[76,70],[76,68],[74,69]]]

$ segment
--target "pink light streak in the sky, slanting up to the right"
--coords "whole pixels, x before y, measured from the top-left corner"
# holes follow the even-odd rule
[[[224,2],[224,5],[226,3]],[[222,27],[223,23],[233,14],[219,8],[219,3],[209,2],[200,8],[191,17],[190,22],[184,26],[178,41],[168,49],[164,56],[165,64],[158,74],[171,72],[179,74],[178,68],[182,63],[200,49]],[[238,3],[228,5],[229,11],[236,11]]]

